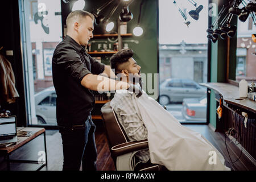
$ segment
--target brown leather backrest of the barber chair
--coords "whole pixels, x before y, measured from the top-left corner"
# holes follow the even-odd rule
[[[125,131],[118,122],[117,115],[114,113],[110,102],[101,107],[101,114],[104,121],[106,137],[108,138],[109,148],[121,143],[129,142]]]

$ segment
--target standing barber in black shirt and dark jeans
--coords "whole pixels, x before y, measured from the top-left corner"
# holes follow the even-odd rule
[[[94,16],[87,11],[72,11],[67,19],[67,36],[56,47],[52,57],[53,85],[56,90],[56,115],[63,141],[63,170],[96,170],[97,149],[95,125],[90,112],[95,103],[92,90],[104,80],[101,91],[128,89],[127,82],[114,77],[109,66],[98,63],[85,51],[93,38]]]

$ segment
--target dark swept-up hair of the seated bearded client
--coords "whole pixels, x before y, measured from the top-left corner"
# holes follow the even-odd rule
[[[133,57],[132,49],[125,49],[122,51],[118,51],[113,56],[110,57],[110,66],[112,69],[115,69],[115,75],[120,73],[118,70],[118,66],[122,63],[126,63],[129,61],[129,58]]]

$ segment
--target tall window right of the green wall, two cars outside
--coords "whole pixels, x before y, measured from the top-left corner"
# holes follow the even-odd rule
[[[199,84],[208,74],[208,1],[200,5],[195,20],[191,2],[159,0],[159,102],[182,123],[207,120],[207,89]]]

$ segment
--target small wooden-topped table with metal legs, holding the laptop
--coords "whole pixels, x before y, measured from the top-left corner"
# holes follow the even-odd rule
[[[17,133],[20,133],[22,131],[28,131],[31,133],[28,137],[19,137],[19,135],[18,135],[18,142],[14,143],[8,147],[0,148],[0,155],[5,156],[5,159],[7,161],[7,170],[8,171],[10,171],[10,162],[39,164],[39,162],[36,160],[13,160],[13,159],[10,159],[9,156],[12,154],[12,152],[14,152],[19,147],[22,147],[24,144],[30,142],[32,139],[35,139],[39,135],[43,134],[44,135],[44,152],[46,154],[46,161],[43,162],[38,169],[36,169],[36,171],[39,171],[44,166],[47,166],[46,129],[39,128],[39,127],[17,127]]]

